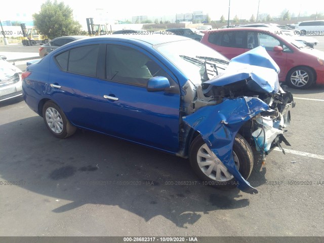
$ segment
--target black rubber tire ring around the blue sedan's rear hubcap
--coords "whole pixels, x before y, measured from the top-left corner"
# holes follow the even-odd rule
[[[62,131],[53,131],[52,128],[49,126],[48,121],[47,121],[47,117],[49,117],[49,115],[47,115],[47,110],[49,109],[49,112],[53,109],[55,109],[58,112],[58,117],[61,117],[61,122],[59,122],[62,125]],[[57,138],[67,138],[71,135],[73,135],[76,131],[76,127],[74,127],[70,121],[66,118],[64,112],[60,109],[60,107],[55,104],[53,101],[47,101],[44,106],[43,106],[43,118],[44,118],[44,122],[46,127],[48,128],[48,130],[50,130],[50,132]],[[53,128],[55,129],[55,128]]]

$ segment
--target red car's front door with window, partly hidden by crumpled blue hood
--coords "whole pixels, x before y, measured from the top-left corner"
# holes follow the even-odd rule
[[[280,68],[279,79],[284,78],[286,69],[287,69],[287,53],[289,51],[286,50],[284,43],[280,41],[278,38],[274,36],[274,34],[268,34],[264,32],[257,33],[257,41],[258,45],[263,46],[265,50],[268,52],[270,57],[275,61],[275,63]],[[285,51],[282,52],[275,52],[273,48],[276,46],[281,46]]]

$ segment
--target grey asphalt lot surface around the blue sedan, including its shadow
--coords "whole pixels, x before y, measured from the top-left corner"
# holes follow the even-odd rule
[[[264,165],[255,154],[254,195],[203,185],[187,159],[116,138],[56,139],[22,98],[3,102],[0,236],[324,236],[324,87],[291,91],[292,146]]]

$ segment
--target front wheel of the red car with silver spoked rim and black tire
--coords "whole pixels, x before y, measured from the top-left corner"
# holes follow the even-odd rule
[[[301,77],[301,80],[298,81],[299,76],[306,74],[307,77]],[[312,86],[315,83],[315,74],[312,69],[305,66],[299,66],[292,68],[286,77],[286,82],[289,87],[299,90],[305,90]],[[306,82],[306,84],[304,84]]]

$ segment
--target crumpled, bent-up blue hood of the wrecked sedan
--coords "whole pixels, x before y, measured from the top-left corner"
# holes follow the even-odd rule
[[[234,57],[224,72],[204,85],[222,87],[246,80],[251,91],[275,94],[279,91],[279,72],[278,65],[265,48],[260,46]]]

